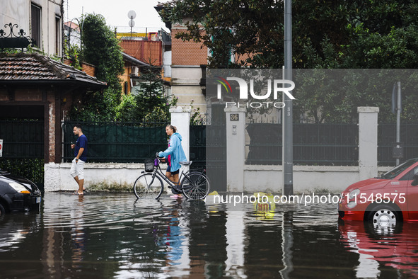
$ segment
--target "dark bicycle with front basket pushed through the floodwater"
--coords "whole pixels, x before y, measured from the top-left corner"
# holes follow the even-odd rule
[[[152,197],[156,200],[160,198],[164,190],[163,181],[168,183],[168,188],[175,188],[186,198],[191,200],[202,200],[209,193],[209,179],[204,170],[201,171],[182,171],[179,176],[180,183],[173,183],[161,171],[161,158],[156,154],[155,159],[145,161],[145,171],[134,183],[134,193],[137,198]],[[192,161],[182,161],[180,165],[190,166]]]

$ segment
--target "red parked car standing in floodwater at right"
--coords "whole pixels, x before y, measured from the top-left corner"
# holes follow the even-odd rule
[[[418,220],[418,158],[349,186],[342,192],[338,212],[342,220],[383,226]]]

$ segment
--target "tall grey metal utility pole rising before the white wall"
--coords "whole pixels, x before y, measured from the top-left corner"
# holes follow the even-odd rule
[[[284,0],[284,79],[292,80],[291,0]],[[283,195],[293,195],[293,103],[283,94]]]

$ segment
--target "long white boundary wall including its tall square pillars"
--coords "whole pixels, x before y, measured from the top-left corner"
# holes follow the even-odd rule
[[[359,111],[359,166],[294,166],[294,193],[330,192],[338,193],[350,184],[388,171],[390,167],[377,166],[377,115],[378,108],[360,107]],[[182,144],[189,158],[188,125],[190,108],[174,108],[173,124],[182,135]],[[231,192],[264,191],[281,192],[281,166],[237,164],[245,161],[245,111],[231,108],[227,113],[227,190]],[[229,115],[238,113],[239,121],[230,121]],[[75,190],[77,184],[70,176],[71,163],[45,164],[45,191]],[[84,167],[85,185],[92,183],[128,183],[134,181],[144,170],[144,164],[95,164]]]

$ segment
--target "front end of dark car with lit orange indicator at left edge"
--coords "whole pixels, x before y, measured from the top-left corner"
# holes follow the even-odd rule
[[[39,210],[40,201],[35,183],[0,169],[0,217],[6,212]]]

